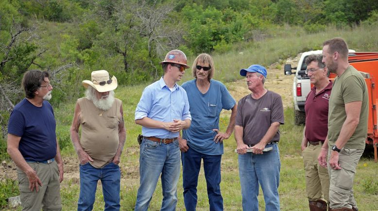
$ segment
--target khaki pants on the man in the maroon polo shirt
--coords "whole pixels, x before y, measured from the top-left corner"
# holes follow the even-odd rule
[[[305,166],[305,176],[306,176],[306,193],[307,197],[311,201],[316,201],[319,199],[326,199],[329,201],[329,177],[328,170],[319,166],[318,155],[321,151],[322,144],[311,145],[302,151],[303,163]],[[322,198],[323,195],[323,198]]]

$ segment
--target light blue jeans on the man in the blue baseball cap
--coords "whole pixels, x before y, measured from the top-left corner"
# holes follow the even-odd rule
[[[281,163],[277,144],[263,154],[239,155],[239,175],[243,211],[258,211],[258,188],[261,185],[266,211],[279,211],[279,171]]]

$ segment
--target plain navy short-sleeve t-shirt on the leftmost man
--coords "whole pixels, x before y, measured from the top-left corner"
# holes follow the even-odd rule
[[[23,99],[13,109],[8,133],[21,137],[18,150],[25,160],[46,161],[56,155],[56,122],[49,102],[41,107]]]

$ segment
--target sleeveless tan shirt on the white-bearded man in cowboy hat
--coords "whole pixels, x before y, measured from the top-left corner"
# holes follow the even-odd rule
[[[95,168],[102,168],[110,163],[119,145],[118,125],[121,121],[121,101],[115,99],[113,106],[103,111],[87,98],[77,100],[81,109],[80,144],[84,151],[93,158],[89,162]]]

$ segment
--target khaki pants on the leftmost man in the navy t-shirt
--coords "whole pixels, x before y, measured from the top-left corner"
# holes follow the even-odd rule
[[[60,211],[62,202],[60,199],[60,184],[58,165],[55,161],[50,164],[28,163],[37,172],[42,186],[39,191],[29,189],[29,179],[26,174],[17,168],[18,188],[23,211]]]

